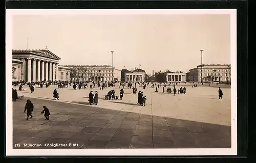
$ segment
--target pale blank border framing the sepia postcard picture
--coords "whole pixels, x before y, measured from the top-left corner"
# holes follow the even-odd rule
[[[12,16],[14,15],[114,15],[114,14],[229,14],[230,15],[230,63],[231,63],[231,148],[193,149],[13,149],[12,145]],[[237,155],[237,10],[189,9],[189,10],[6,10],[6,156],[150,156],[150,155]],[[10,91],[9,91],[10,90]]]

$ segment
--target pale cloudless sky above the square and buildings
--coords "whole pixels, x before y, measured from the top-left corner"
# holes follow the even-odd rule
[[[59,65],[184,71],[230,63],[230,15],[18,15],[13,49],[47,48]],[[140,67],[141,65],[141,67]]]

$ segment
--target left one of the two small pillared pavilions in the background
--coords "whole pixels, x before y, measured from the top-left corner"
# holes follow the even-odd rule
[[[125,82],[144,82],[146,72],[142,69],[125,72]]]

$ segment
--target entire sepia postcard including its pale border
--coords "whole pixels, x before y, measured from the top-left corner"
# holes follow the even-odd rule
[[[6,13],[7,154],[237,154],[236,10]]]

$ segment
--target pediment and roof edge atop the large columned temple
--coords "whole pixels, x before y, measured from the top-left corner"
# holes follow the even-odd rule
[[[58,56],[54,55],[54,53],[48,49],[12,49],[12,55],[19,55],[22,53],[30,53],[32,55],[60,60]]]

